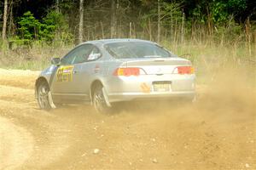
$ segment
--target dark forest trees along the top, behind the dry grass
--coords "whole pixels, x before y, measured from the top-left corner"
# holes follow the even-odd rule
[[[4,4],[8,4],[7,10],[3,10],[6,7]],[[19,34],[21,30],[15,28],[20,26],[20,18],[31,11],[34,18],[42,24],[41,33],[49,35],[41,40],[46,38],[53,41],[61,35],[71,33],[76,35],[77,42],[128,36],[148,38],[156,42],[166,38],[183,42],[180,35],[189,37],[189,34],[193,34],[197,37],[196,32],[202,37],[209,32],[214,38],[219,27],[229,25],[233,19],[240,26],[247,17],[253,23],[256,20],[255,7],[255,0],[87,0],[86,5],[84,0],[1,0],[0,29],[6,34],[2,37],[10,37],[7,36],[10,35],[8,31],[4,31],[8,30],[8,26],[12,26],[9,30],[14,29],[12,35]],[[6,19],[3,17],[4,11]],[[50,11],[55,11],[55,14],[49,15]],[[60,30],[61,25],[56,20],[51,20],[58,18],[58,13],[67,29]],[[44,20],[47,15],[52,18]],[[4,26],[2,22],[5,23]],[[205,32],[202,33],[198,28],[205,29]],[[39,36],[38,32],[30,32],[32,40],[38,39],[35,37]]]

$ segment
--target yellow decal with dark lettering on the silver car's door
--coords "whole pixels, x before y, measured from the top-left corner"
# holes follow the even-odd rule
[[[73,65],[58,68],[57,82],[73,82]]]

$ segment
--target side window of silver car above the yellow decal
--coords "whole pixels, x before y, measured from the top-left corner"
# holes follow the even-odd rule
[[[74,65],[87,61],[92,48],[93,45],[91,44],[84,44],[74,48],[73,51],[61,59],[61,65]]]

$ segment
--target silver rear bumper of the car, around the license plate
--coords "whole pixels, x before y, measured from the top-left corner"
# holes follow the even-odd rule
[[[154,82],[169,82],[170,90],[155,91]],[[108,101],[131,101],[137,99],[176,99],[195,96],[195,75],[146,75],[139,77],[112,77],[108,79]]]

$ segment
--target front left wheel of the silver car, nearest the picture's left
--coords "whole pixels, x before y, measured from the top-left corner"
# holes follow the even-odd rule
[[[51,106],[49,104],[49,86],[47,82],[41,82],[38,85],[38,105],[40,109],[49,111]]]

